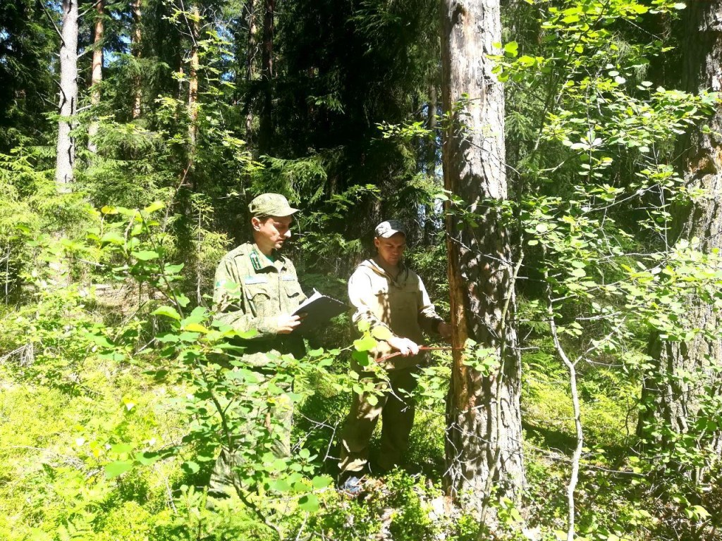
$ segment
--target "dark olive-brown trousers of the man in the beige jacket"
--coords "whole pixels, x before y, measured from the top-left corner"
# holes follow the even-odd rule
[[[383,418],[383,424],[378,465],[382,470],[391,470],[401,463],[414,425],[416,408],[409,394],[417,386],[416,373],[415,366],[389,370],[386,372],[388,381],[372,372],[359,374],[360,380],[372,379],[375,382],[374,395],[378,397],[378,402],[373,404],[369,395],[354,393],[341,436],[339,468],[342,474],[360,472],[367,465],[369,441],[379,417]]]

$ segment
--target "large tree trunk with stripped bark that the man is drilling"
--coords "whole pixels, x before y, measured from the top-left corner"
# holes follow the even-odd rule
[[[449,493],[484,519],[492,488],[521,501],[521,361],[516,344],[510,237],[499,204],[507,198],[504,92],[488,58],[501,40],[499,0],[443,0],[442,95],[451,115],[443,141],[444,184],[479,226],[449,214],[453,374],[447,405]],[[466,97],[464,97],[466,94]],[[461,209],[456,209],[461,211]],[[466,338],[490,348],[495,367],[465,364]]]

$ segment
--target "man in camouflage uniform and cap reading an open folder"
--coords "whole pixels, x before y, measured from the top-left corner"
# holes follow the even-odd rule
[[[291,236],[292,214],[298,209],[292,208],[283,195],[264,193],[251,201],[248,210],[253,242],[240,245],[222,258],[216,271],[213,302],[217,321],[240,332],[256,332],[251,338],[236,340],[236,344],[244,348],[240,361],[252,366],[254,374],[250,381],[248,377],[235,378],[235,374],[230,378],[238,382],[238,396],[232,400],[238,402],[239,409],[245,408],[236,412],[235,417],[248,420],[248,431],[251,423],[265,425],[271,432],[274,454],[288,457],[293,414],[290,399],[281,394],[270,400],[275,403],[272,410],[265,408],[265,404],[255,404],[249,411],[249,402],[243,395],[258,390],[274,377],[276,363],[282,356],[290,354],[300,359],[305,354],[303,338],[292,334],[300,325],[300,317],[291,314],[306,296],[298,283],[293,263],[277,252]],[[286,387],[285,390],[290,390],[290,383],[287,382]],[[279,427],[282,434],[273,434],[274,428]],[[247,448],[240,449],[249,443],[243,441],[248,431],[231,434],[231,444],[222,448],[211,475],[211,496],[224,497],[234,491],[234,485],[238,483],[234,469],[243,462],[240,454],[244,450],[248,452]],[[260,444],[256,442],[256,445]]]

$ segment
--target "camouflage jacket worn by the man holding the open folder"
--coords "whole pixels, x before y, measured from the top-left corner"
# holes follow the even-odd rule
[[[252,242],[228,252],[218,265],[213,291],[216,320],[238,331],[256,330],[253,338],[239,340],[243,361],[253,366],[268,363],[266,353],[304,355],[303,338],[279,335],[277,318],[292,313],[306,296],[291,260],[274,252],[266,258]]]

